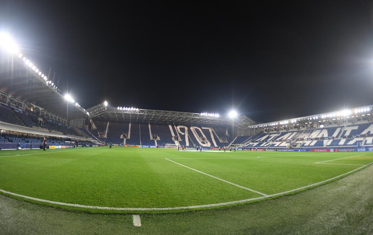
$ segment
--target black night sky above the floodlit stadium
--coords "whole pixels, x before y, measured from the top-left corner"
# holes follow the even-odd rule
[[[7,31],[83,107],[270,122],[373,104],[373,3],[1,1]]]

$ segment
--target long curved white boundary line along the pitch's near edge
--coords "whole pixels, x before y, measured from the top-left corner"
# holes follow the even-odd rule
[[[254,197],[254,198],[249,198],[249,199],[244,199],[244,200],[238,200],[238,201],[232,201],[232,202],[222,202],[222,203],[214,203],[214,204],[198,205],[198,206],[153,207],[153,208],[120,208],[120,207],[86,206],[86,205],[79,205],[79,204],[72,204],[72,203],[54,202],[54,201],[39,199],[39,198],[35,198],[35,197],[28,197],[28,196],[24,196],[24,195],[21,195],[21,194],[11,193],[9,191],[5,191],[5,190],[2,190],[2,189],[0,189],[0,192],[5,193],[5,194],[9,194],[9,195],[13,195],[13,196],[17,196],[17,197],[22,197],[22,198],[34,200],[34,201],[37,201],[37,202],[44,202],[44,203],[50,203],[50,204],[54,204],[54,205],[61,205],[61,206],[72,206],[72,207],[88,208],[88,209],[128,210],[128,211],[134,211],[134,210],[136,210],[136,211],[147,211],[147,210],[182,210],[182,209],[195,209],[195,208],[204,208],[204,207],[215,207],[215,206],[232,205],[232,204],[243,203],[243,202],[250,202],[250,201],[265,199],[265,198],[269,198],[269,197],[276,197],[276,196],[284,195],[284,194],[287,194],[287,193],[292,193],[292,192],[295,192],[295,191],[298,191],[298,190],[307,189],[309,187],[317,186],[319,184],[323,184],[323,183],[326,183],[326,182],[331,181],[331,180],[335,180],[336,178],[345,176],[347,174],[350,174],[350,173],[353,173],[355,171],[358,171],[361,168],[367,167],[368,165],[371,165],[372,163],[373,162],[370,162],[370,163],[368,163],[366,165],[363,165],[362,167],[356,168],[355,170],[349,171],[347,173],[341,174],[339,176],[336,176],[336,177],[333,177],[333,178],[330,178],[330,179],[327,179],[327,180],[320,181],[318,183],[309,184],[307,186],[303,186],[303,187],[300,187],[300,188],[297,188],[297,189],[292,189],[292,190],[281,192],[281,193],[275,193],[275,194],[271,194],[271,195],[267,195],[267,196]]]

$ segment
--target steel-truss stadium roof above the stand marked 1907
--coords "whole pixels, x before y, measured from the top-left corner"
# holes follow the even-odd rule
[[[217,115],[202,115],[201,113],[188,113],[177,111],[164,111],[153,109],[137,109],[128,108],[120,109],[119,107],[108,107],[104,103],[93,106],[87,111],[90,113],[90,118],[108,118],[112,120],[147,120],[152,122],[167,122],[167,123],[195,123],[208,125],[233,125],[242,129],[246,129],[251,125],[256,124],[247,116],[237,116],[229,118],[227,116]]]

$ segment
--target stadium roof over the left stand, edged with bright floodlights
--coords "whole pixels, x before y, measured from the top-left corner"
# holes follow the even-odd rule
[[[23,103],[34,103],[64,119],[89,117],[82,107],[74,103],[75,100],[65,99],[54,86],[52,81],[22,54],[0,50],[1,91]]]

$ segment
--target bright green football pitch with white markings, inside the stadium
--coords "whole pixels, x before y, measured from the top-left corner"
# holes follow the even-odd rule
[[[372,162],[372,152],[3,150],[0,192],[93,213],[181,212],[297,193]]]

